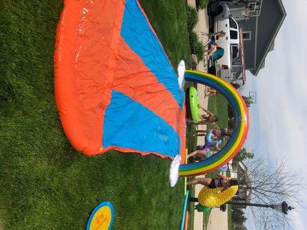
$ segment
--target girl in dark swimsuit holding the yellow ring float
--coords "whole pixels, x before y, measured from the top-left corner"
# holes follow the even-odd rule
[[[223,190],[229,188],[230,186],[238,185],[238,180],[236,178],[229,178],[223,176],[222,174],[217,174],[217,178],[196,178],[187,182],[187,185],[196,185],[200,183],[201,185],[207,186],[210,189],[223,188]]]

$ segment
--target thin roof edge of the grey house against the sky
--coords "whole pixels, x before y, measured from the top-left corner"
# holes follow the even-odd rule
[[[268,0],[268,1],[272,1],[272,0]],[[261,68],[263,68],[265,66],[265,59],[266,59],[268,53],[274,49],[274,40],[275,40],[275,38],[278,34],[278,31],[279,31],[279,29],[282,25],[284,18],[286,18],[286,16],[287,16],[286,10],[284,9],[281,0],[277,0],[277,5],[279,7],[281,17],[278,21],[277,27],[275,28],[274,32],[272,33],[272,36],[270,38],[270,42],[267,44],[265,52],[262,53],[262,56],[260,57],[260,61],[258,62],[255,69],[252,71],[253,75],[257,75],[259,73],[259,71],[261,70]],[[263,6],[264,6],[264,4],[261,7],[263,7]],[[263,14],[263,11],[261,13]],[[261,15],[259,17],[261,17]]]

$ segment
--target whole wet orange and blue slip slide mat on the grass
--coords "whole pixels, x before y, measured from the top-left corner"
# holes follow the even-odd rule
[[[184,91],[136,0],[64,1],[55,88],[64,131],[86,155],[185,150]]]

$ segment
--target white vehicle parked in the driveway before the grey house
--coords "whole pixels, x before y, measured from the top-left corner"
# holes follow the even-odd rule
[[[218,7],[221,13],[214,17],[214,33],[223,31],[226,35],[217,40],[218,45],[224,49],[224,55],[215,61],[215,70],[217,76],[230,82],[234,80],[234,74],[231,73],[232,60],[239,58],[239,27],[230,15],[228,4],[223,3]]]

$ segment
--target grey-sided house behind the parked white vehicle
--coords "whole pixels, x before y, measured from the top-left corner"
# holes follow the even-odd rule
[[[265,67],[267,54],[274,50],[274,40],[286,11],[281,0],[230,2],[229,8],[238,26],[243,28],[245,70],[256,76]]]

